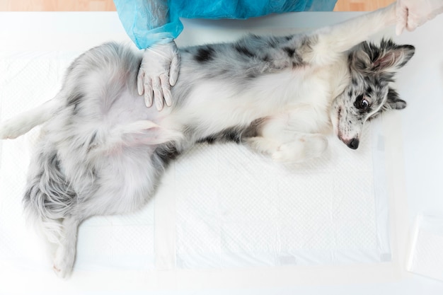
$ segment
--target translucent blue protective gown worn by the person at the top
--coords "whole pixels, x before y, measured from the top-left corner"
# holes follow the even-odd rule
[[[114,0],[127,35],[145,49],[183,30],[178,18],[251,18],[289,11],[332,11],[337,0]]]

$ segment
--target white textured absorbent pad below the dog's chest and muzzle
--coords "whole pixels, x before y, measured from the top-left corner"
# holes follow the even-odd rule
[[[177,266],[389,261],[387,212],[377,210],[387,201],[382,189],[376,194],[376,151],[367,138],[358,154],[330,141],[328,155],[292,168],[234,144],[197,146],[180,158]]]

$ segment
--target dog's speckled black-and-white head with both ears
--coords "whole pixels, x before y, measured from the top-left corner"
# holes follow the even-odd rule
[[[414,51],[412,45],[381,40],[379,46],[362,42],[350,52],[350,83],[333,101],[330,118],[335,134],[351,149],[359,145],[364,122],[385,110],[406,107],[389,83]]]

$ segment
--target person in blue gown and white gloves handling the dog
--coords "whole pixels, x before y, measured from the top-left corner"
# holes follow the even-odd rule
[[[290,11],[332,11],[337,0],[114,0],[132,41],[144,50],[137,76],[147,107],[155,101],[171,106],[171,86],[178,78],[180,57],[174,39],[183,18],[251,18]],[[443,0],[398,0],[396,33],[415,30],[443,12]]]

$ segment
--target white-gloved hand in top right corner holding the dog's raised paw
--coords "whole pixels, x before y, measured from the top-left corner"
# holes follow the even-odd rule
[[[405,28],[415,30],[442,12],[443,0],[397,0],[396,34],[400,35]]]

